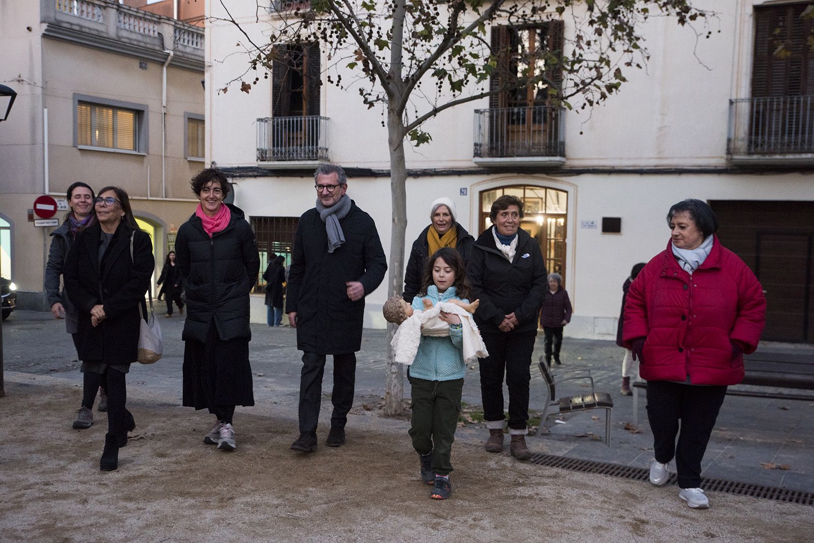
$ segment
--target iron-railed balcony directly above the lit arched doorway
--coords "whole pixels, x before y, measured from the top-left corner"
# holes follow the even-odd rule
[[[564,111],[555,106],[475,110],[473,160],[484,166],[562,166]]]

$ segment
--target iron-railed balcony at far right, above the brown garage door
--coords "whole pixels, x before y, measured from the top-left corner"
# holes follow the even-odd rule
[[[814,164],[814,96],[729,100],[727,154],[739,165]]]

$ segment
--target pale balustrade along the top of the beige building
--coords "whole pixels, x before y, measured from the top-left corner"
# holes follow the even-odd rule
[[[204,69],[204,28],[113,0],[40,0],[40,7],[46,36],[156,62],[172,49],[173,65]]]

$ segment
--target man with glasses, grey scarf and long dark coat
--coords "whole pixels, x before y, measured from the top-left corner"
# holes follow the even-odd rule
[[[379,232],[370,215],[345,194],[344,170],[322,164],[314,175],[317,206],[300,217],[288,274],[286,311],[303,351],[300,377],[300,437],[292,450],[317,448],[322,374],[334,355],[334,390],[326,445],[345,443],[345,424],[353,405],[356,352],[361,349],[365,295],[384,279]]]

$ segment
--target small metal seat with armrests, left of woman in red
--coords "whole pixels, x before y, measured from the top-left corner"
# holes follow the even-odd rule
[[[540,427],[542,427],[548,415],[558,415],[560,413],[575,413],[577,411],[590,411],[592,409],[605,410],[605,445],[610,447],[610,412],[613,411],[613,398],[610,394],[596,392],[593,389],[593,377],[588,368],[577,368],[559,373],[555,380],[554,374],[545,363],[545,357],[540,357],[540,373],[545,380],[545,402],[543,414],[540,415]],[[591,392],[588,394],[576,394],[574,396],[557,397],[557,383],[567,380],[587,380],[591,384]],[[549,409],[556,407],[557,411],[549,413]],[[542,432],[538,432],[542,437]]]

